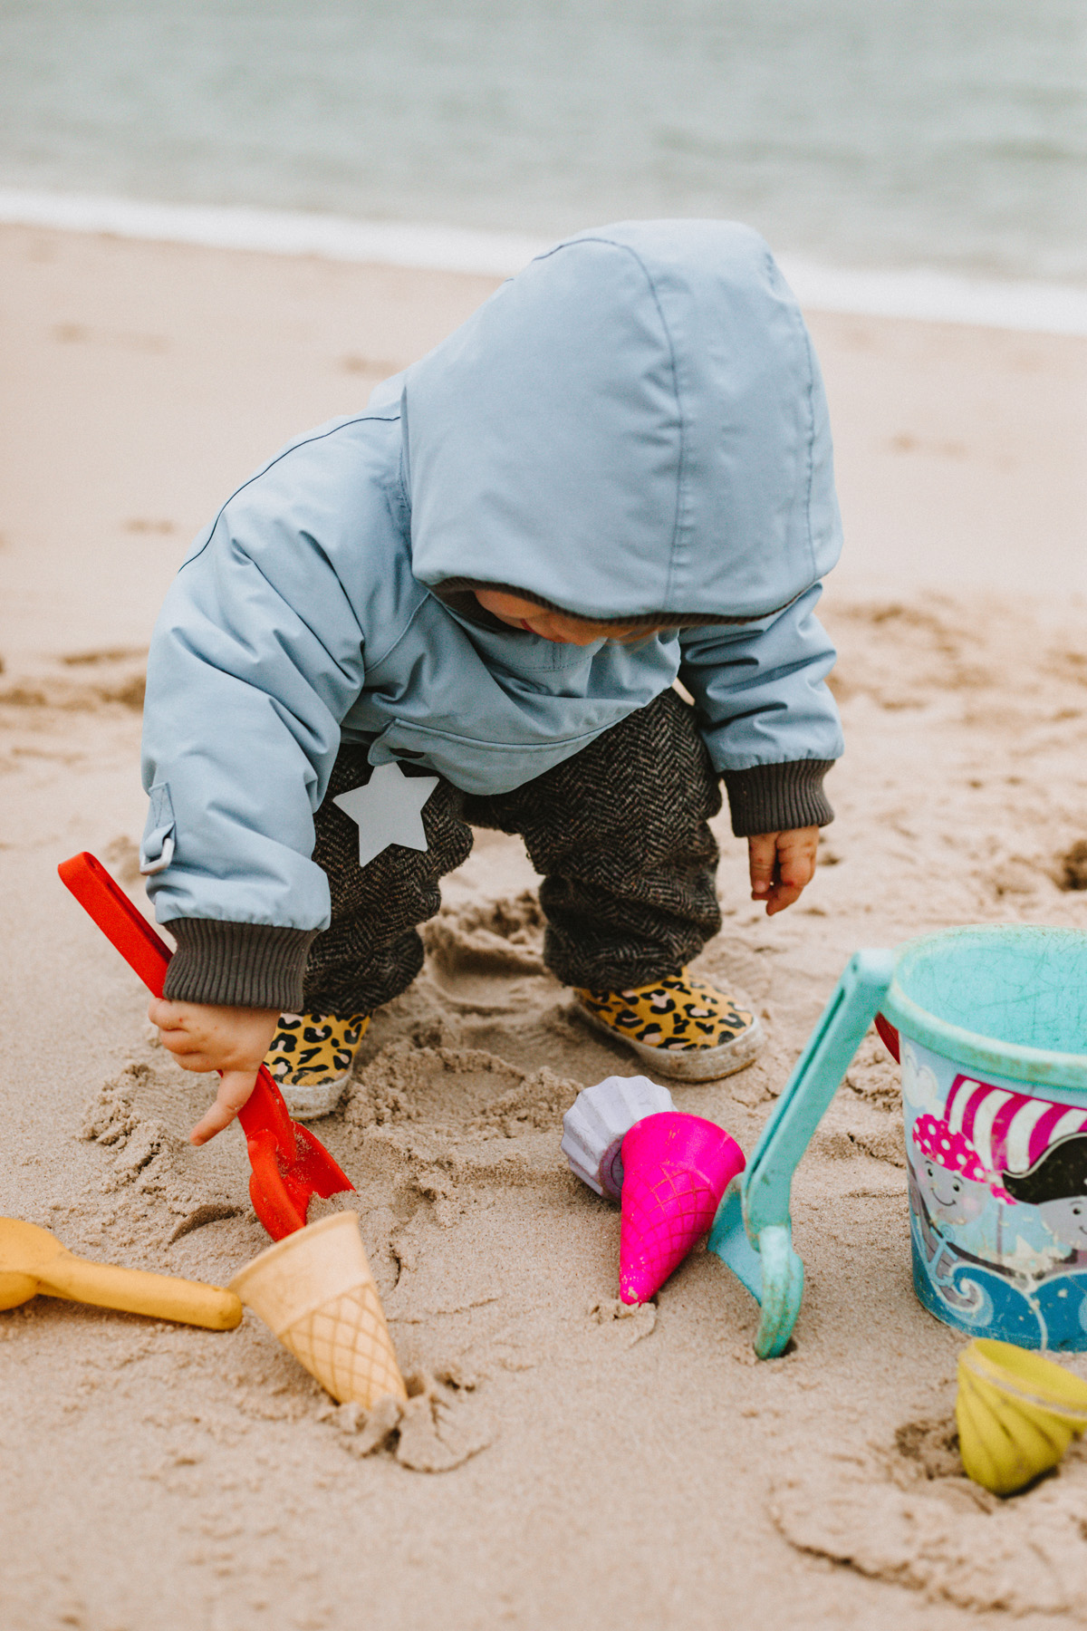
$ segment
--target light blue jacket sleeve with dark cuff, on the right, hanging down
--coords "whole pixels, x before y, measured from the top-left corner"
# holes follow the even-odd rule
[[[751,625],[680,634],[680,682],[694,698],[738,837],[826,825],[823,776],[841,757],[841,721],[826,675],[834,648],[815,617],[815,584]]]

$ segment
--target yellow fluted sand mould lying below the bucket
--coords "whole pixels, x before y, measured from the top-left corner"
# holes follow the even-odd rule
[[[955,1417],[966,1474],[1014,1496],[1087,1429],[1087,1381],[1012,1342],[976,1337],[958,1355]]]

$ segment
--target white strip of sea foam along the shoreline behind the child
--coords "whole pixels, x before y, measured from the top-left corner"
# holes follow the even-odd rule
[[[0,188],[0,223],[65,232],[197,243],[264,254],[316,254],[427,271],[510,277],[551,241],[520,233],[476,232],[412,222],[349,220],[204,204],[145,204],[137,199]],[[926,267],[851,271],[779,256],[803,307],[904,316],[929,323],[1087,334],[1087,289],[1041,282],[988,282]]]

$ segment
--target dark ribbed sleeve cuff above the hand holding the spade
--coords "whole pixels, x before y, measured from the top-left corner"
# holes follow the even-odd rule
[[[277,1008],[301,1013],[301,975],[316,930],[272,923],[173,918],[178,941],[163,997],[223,1008]]]

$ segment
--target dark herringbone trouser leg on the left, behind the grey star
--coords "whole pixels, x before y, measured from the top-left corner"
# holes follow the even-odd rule
[[[341,747],[315,817],[313,860],[329,881],[332,922],[310,948],[308,1013],[368,1014],[407,990],[424,959],[416,926],[442,905],[442,874],[471,851],[471,829],[460,816],[463,794],[440,778],[422,809],[427,848],[393,843],[360,866],[359,827],[332,799],[365,786],[372,768],[365,747]],[[401,770],[412,775],[411,767]]]

